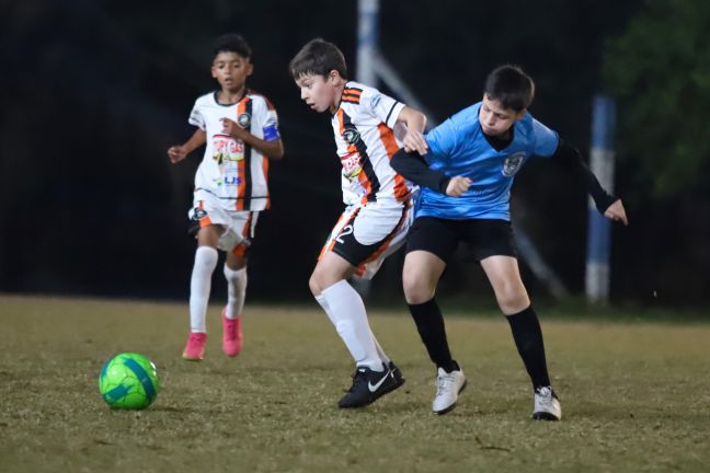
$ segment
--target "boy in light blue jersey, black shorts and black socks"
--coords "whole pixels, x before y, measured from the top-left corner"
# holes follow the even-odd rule
[[[545,344],[517,265],[509,195],[517,171],[532,155],[564,160],[583,178],[597,209],[628,224],[620,199],[606,193],[580,152],[536,120],[527,108],[535,84],[515,66],[486,79],[483,100],[451,116],[426,136],[424,157],[405,147],[392,168],[423,187],[406,239],[404,295],[430,358],[437,366],[433,411],[456,406],[466,377],[453,359],[436,285],[459,242],[469,245],[485,272],[534,389],[532,418],[559,420],[562,409],[550,385]]]

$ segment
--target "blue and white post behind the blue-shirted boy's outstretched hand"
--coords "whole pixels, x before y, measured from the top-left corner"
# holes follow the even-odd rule
[[[614,131],[616,104],[606,95],[595,95],[592,112],[592,153],[589,168],[608,192],[614,192]],[[589,197],[587,230],[586,297],[587,301],[609,300],[609,254],[611,223],[596,209]]]

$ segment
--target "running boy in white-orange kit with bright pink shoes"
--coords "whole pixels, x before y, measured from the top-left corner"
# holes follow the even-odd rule
[[[183,358],[194,361],[205,353],[205,314],[217,250],[227,252],[222,348],[230,357],[241,350],[247,253],[259,212],[270,207],[268,160],[284,155],[274,106],[245,85],[253,70],[247,42],[236,34],[224,35],[215,41],[214,53],[211,76],[220,89],[195,101],[188,122],[197,130],[185,143],[168,150],[170,161],[176,163],[206,145],[188,212],[197,251],[190,285],[190,336]]]

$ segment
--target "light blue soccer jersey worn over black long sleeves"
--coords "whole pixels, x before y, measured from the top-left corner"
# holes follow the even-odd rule
[[[427,187],[416,217],[449,220],[509,220],[513,178],[531,155],[551,157],[558,135],[526,113],[513,126],[513,141],[496,151],[479,124],[481,103],[463,108],[426,135],[430,150],[424,157],[430,168],[454,177],[469,177],[471,187],[461,197],[449,197]]]

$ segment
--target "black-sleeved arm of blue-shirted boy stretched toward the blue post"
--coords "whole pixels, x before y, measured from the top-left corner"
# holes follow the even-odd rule
[[[585,183],[586,189],[594,199],[599,214],[603,214],[606,218],[620,221],[625,226],[629,224],[629,219],[626,215],[626,209],[623,208],[623,203],[620,198],[607,193],[604,187],[599,184],[599,181],[596,178],[594,173],[582,159],[580,151],[573,146],[568,145],[563,140],[560,140],[557,150],[554,151],[553,158],[559,158],[562,163],[568,168],[571,168],[572,171]]]

